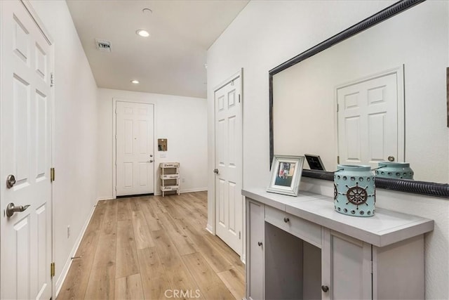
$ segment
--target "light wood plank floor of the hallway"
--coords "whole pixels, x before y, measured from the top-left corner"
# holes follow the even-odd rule
[[[244,265],[206,218],[206,192],[98,202],[58,299],[242,299]]]

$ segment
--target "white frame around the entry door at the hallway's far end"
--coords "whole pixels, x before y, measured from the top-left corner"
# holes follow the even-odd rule
[[[153,168],[153,184],[154,184],[154,195],[156,195],[156,191],[157,191],[157,178],[156,178],[156,172],[157,172],[157,168],[156,168],[156,160],[158,157],[156,157],[156,152],[154,151],[157,145],[157,137],[156,137],[156,103],[152,102],[152,101],[146,101],[146,100],[142,100],[142,99],[135,99],[135,98],[122,98],[122,97],[113,97],[112,98],[112,198],[116,199],[117,198],[117,190],[116,190],[116,171],[117,171],[117,167],[116,167],[116,109],[117,109],[117,102],[128,102],[128,103],[143,103],[143,104],[149,104],[149,105],[153,105],[153,152],[154,152],[154,168]]]

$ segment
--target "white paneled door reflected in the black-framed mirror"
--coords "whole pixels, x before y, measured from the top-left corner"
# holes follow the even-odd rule
[[[404,159],[403,72],[399,69],[337,87],[340,164]]]

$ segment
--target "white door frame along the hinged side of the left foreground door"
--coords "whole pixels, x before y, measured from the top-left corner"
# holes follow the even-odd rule
[[[53,76],[55,76],[55,42],[53,40],[53,37],[51,37],[51,34],[49,34],[48,30],[46,29],[46,27],[43,25],[43,22],[41,21],[41,19],[39,18],[39,15],[36,13],[36,11],[34,11],[34,8],[32,6],[32,4],[28,1],[28,0],[18,0],[20,1],[20,3],[24,6],[25,11],[27,11],[27,13],[29,14],[29,16],[32,18],[34,24],[36,25],[36,27],[39,29],[39,31],[41,32],[42,36],[44,39],[46,39],[46,41],[48,42],[50,48],[51,48],[51,54],[52,54],[52,58],[49,61],[50,65],[51,65],[51,70],[50,70],[50,74],[53,74]],[[0,4],[0,15],[3,13],[3,5]],[[0,22],[0,41],[3,40],[3,27],[1,26],[1,22]],[[0,47],[0,64],[1,61],[4,59],[4,53],[1,50]],[[1,86],[3,86],[3,72],[0,72],[0,88]],[[51,167],[55,167],[55,88],[54,86],[51,86],[51,118],[50,118],[50,126],[51,126],[51,135],[50,135],[50,143],[51,143],[51,153],[50,153],[50,164]],[[1,116],[3,113],[3,94],[0,93],[0,137],[4,136],[4,128],[3,126],[1,126]],[[0,147],[0,157],[1,155],[3,155],[3,153],[1,152],[1,147]],[[0,158],[1,160],[1,158]],[[0,166],[1,168],[1,166]],[[50,171],[50,170],[48,170]],[[0,172],[1,173],[1,172]],[[4,199],[4,190],[0,189],[0,200]],[[1,201],[0,201],[1,203]],[[54,209],[54,188],[53,188],[53,183],[51,184],[51,195],[50,195],[50,215],[51,215],[51,226],[50,226],[50,240],[51,240],[51,262],[55,261],[55,253],[56,253],[56,249],[55,249],[55,209]],[[0,230],[0,241],[2,240],[1,238],[1,230]],[[1,249],[0,249],[1,252]],[[1,265],[0,265],[0,276],[1,276]],[[48,266],[48,268],[50,268],[50,266]],[[56,295],[56,280],[55,277],[51,277],[51,297],[52,299],[55,299],[55,295]],[[1,289],[1,278],[0,278],[0,289]]]

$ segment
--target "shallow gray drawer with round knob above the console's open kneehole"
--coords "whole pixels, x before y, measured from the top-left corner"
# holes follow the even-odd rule
[[[265,221],[321,248],[321,226],[273,207],[265,207]]]

